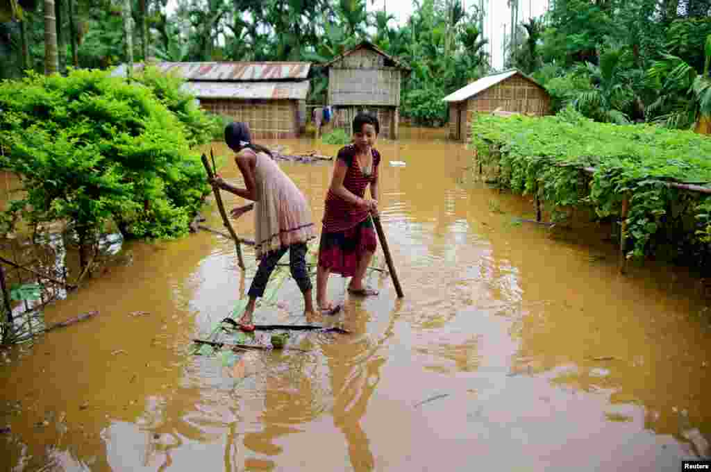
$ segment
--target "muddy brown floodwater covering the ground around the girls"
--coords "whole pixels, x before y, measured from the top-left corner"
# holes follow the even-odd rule
[[[610,227],[517,223],[533,218],[530,198],[469,178],[469,152],[443,134],[405,135],[378,145],[404,299],[385,274],[370,275],[380,295],[368,299],[331,277],[345,309],[317,321],[351,335],[303,333],[289,345],[306,352],[250,352],[223,368],[189,350],[249,287],[232,242],[126,243],[45,311],[99,316],[0,350],[0,470],[661,471],[709,456],[699,281],[652,262],[620,276]],[[279,165],[319,221],[331,163]],[[221,228],[214,203],[205,218]],[[253,237],[252,215],[235,228]],[[249,247],[245,259],[254,265]],[[259,322],[304,323],[292,279],[277,300]]]

